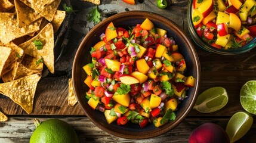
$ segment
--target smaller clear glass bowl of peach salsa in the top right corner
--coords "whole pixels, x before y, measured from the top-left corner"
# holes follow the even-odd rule
[[[193,0],[187,8],[189,32],[197,45],[223,55],[247,52],[256,46],[254,0]]]

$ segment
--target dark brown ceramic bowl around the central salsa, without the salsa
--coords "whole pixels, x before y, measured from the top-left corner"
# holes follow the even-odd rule
[[[95,43],[100,41],[101,33],[104,33],[107,25],[111,21],[115,24],[116,27],[121,26],[128,29],[128,26],[132,27],[136,26],[137,23],[142,23],[145,18],[149,18],[155,24],[155,27],[167,30],[168,37],[172,36],[172,38],[174,38],[175,42],[178,44],[179,51],[181,52],[181,54],[184,55],[184,58],[186,59],[186,74],[192,75],[196,78],[195,87],[190,88],[189,91],[187,91],[188,98],[186,98],[179,105],[178,111],[175,112],[177,115],[177,119],[175,119],[174,122],[166,123],[159,128],[156,128],[153,123],[150,123],[145,128],[140,128],[138,125],[130,122],[128,122],[128,124],[125,126],[118,126],[116,125],[116,122],[113,122],[109,125],[103,113],[98,110],[93,110],[90,105],[87,104],[85,95],[88,91],[88,87],[84,83],[87,75],[82,69],[82,66],[87,63],[91,63],[91,47],[95,45]],[[183,30],[181,30],[175,23],[173,23],[168,18],[144,11],[128,11],[124,13],[119,13],[97,24],[93,29],[90,30],[90,32],[81,42],[75,55],[72,71],[75,95],[82,109],[85,111],[87,117],[96,126],[98,126],[98,128],[106,131],[107,133],[119,136],[121,138],[129,139],[144,139],[159,136],[175,128],[179,123],[181,123],[182,120],[184,120],[184,118],[187,116],[187,114],[189,114],[189,111],[192,110],[193,105],[195,104],[199,92],[200,75],[201,69],[198,55],[196,54],[194,46],[190,42],[187,35],[184,34]]]

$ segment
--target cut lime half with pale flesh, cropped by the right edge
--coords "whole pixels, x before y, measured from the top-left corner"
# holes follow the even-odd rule
[[[248,81],[242,86],[240,102],[246,111],[256,114],[256,80]]]

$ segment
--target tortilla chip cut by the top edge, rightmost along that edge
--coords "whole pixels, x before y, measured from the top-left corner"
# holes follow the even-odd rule
[[[40,15],[45,17],[45,19],[47,19],[48,21],[52,21],[57,11],[58,5],[60,5],[60,2],[61,0],[55,0],[51,4],[47,5],[47,7],[45,7],[44,10],[40,12]]]

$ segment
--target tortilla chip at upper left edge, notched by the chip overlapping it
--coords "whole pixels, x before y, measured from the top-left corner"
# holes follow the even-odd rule
[[[18,27],[17,16],[13,13],[0,13],[0,41],[8,43],[16,38],[39,30],[38,20],[24,27]],[[8,36],[7,36],[8,35]]]

